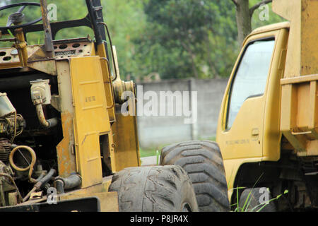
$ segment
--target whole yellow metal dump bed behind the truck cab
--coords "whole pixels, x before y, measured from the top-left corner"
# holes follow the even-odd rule
[[[290,20],[281,131],[298,155],[318,155],[318,1],[274,0],[273,11]]]

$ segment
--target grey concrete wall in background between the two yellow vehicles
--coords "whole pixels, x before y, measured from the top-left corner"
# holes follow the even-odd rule
[[[156,148],[159,145],[167,145],[179,141],[215,137],[218,114],[227,83],[228,79],[169,80],[153,83],[138,83],[137,87],[139,87],[139,89],[137,89],[137,92],[139,92],[139,95],[141,93],[141,85],[143,94],[147,91],[154,91],[158,97],[160,96],[160,91],[172,91],[172,93],[175,91],[197,91],[198,109],[195,124],[184,124],[184,119],[188,118],[184,116],[139,116],[137,120],[141,148]],[[138,101],[140,101],[140,98]],[[149,100],[143,100],[143,106],[147,102],[149,102]],[[167,106],[166,108],[170,107],[172,106]],[[175,104],[175,107],[182,106]],[[158,108],[160,109],[160,102],[158,102]],[[191,110],[191,108],[189,110]]]

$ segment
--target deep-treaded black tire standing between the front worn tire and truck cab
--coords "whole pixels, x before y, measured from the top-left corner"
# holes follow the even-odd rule
[[[230,211],[223,157],[217,143],[189,141],[169,145],[161,151],[160,165],[179,165],[189,174],[201,212]]]

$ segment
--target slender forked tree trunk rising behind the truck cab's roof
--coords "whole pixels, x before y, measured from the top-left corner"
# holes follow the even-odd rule
[[[252,18],[249,13],[249,0],[236,0],[236,22],[238,42],[242,46],[245,37],[252,31]]]

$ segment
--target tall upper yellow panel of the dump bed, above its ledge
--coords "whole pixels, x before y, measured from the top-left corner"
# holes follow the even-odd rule
[[[273,0],[273,11],[290,20],[285,78],[318,72],[318,1]]]

